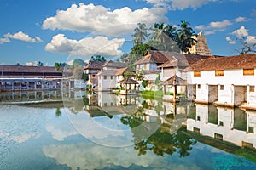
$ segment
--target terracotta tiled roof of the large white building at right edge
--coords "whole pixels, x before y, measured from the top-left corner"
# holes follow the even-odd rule
[[[189,71],[209,71],[256,67],[256,54],[201,59],[190,65]]]

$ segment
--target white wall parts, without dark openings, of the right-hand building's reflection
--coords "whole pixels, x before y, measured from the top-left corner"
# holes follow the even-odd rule
[[[193,131],[194,127],[200,129],[202,135],[214,138],[214,134],[223,135],[223,140],[230,143],[242,146],[242,141],[253,144],[256,148],[255,129],[256,129],[256,114],[255,112],[247,112],[247,128],[248,126],[254,128],[254,133],[247,133],[245,131],[233,129],[234,123],[234,109],[227,109],[218,107],[218,124],[207,122],[208,105],[196,105],[196,116],[200,116],[200,121],[189,118],[187,120],[187,129]],[[223,126],[219,126],[223,122]],[[240,138],[237,138],[239,136]]]

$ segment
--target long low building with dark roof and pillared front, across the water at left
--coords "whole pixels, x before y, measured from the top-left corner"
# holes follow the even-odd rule
[[[44,90],[67,88],[85,88],[83,80],[72,79],[68,71],[54,66],[17,66],[0,65],[0,90]],[[69,75],[68,75],[69,76]]]

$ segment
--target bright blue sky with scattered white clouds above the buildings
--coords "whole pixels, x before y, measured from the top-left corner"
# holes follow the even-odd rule
[[[189,21],[216,55],[236,55],[236,38],[256,42],[255,0],[0,0],[0,64],[116,59],[130,51],[138,22]]]

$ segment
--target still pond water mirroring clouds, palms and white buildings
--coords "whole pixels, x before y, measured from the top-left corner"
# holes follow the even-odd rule
[[[0,102],[0,169],[256,169],[254,111],[58,91]]]

